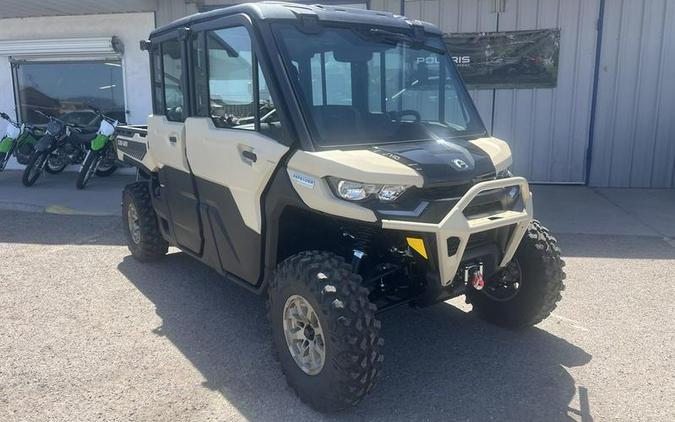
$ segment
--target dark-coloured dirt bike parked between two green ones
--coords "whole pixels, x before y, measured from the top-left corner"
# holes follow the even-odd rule
[[[95,133],[39,110],[36,112],[47,118],[47,131],[35,144],[33,154],[23,172],[22,182],[25,186],[33,186],[43,170],[58,173],[69,164],[80,164],[87,153],[85,144]]]

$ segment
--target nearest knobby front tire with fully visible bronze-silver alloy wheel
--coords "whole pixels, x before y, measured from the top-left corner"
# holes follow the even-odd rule
[[[306,251],[279,264],[269,286],[273,349],[291,389],[320,412],[358,404],[382,367],[380,322],[361,282],[342,257]]]

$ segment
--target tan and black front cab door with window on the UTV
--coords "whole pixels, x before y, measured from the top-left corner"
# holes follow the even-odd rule
[[[237,19],[192,28],[193,115],[187,158],[199,192],[205,254],[256,284],[262,262],[262,195],[288,147],[249,28]]]

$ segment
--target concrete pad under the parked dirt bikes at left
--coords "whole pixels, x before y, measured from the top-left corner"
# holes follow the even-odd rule
[[[126,169],[125,169],[126,170]],[[76,172],[43,174],[30,188],[22,171],[0,173],[0,209],[67,215],[121,215],[122,189],[135,180],[127,172],[92,178],[84,190],[75,188]]]

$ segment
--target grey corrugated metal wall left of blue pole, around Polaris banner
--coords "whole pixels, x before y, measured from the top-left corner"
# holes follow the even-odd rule
[[[476,90],[471,95],[494,136],[509,142],[514,170],[535,182],[583,183],[600,0],[406,0],[405,15],[446,32],[560,28],[558,87]],[[371,8],[400,11],[400,1]],[[494,116],[494,121],[493,121]]]

